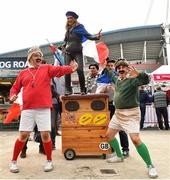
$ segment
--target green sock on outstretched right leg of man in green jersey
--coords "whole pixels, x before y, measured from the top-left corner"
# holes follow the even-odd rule
[[[142,159],[145,161],[147,166],[152,165],[152,161],[149,155],[148,148],[144,143],[140,144],[139,146],[136,147],[139,155],[142,157]]]

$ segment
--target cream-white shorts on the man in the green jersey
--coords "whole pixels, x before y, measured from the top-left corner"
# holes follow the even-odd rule
[[[109,128],[123,130],[127,133],[139,133],[140,129],[139,107],[130,109],[116,109]]]

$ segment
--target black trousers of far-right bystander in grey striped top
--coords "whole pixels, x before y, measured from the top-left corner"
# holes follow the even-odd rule
[[[169,123],[168,123],[168,110],[167,110],[167,107],[156,108],[156,116],[157,116],[157,119],[158,119],[159,128],[164,129],[163,128],[163,121],[162,121],[162,116],[163,116],[165,129],[168,130],[169,129]]]

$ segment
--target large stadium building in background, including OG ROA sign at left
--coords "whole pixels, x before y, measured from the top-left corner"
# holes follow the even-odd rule
[[[138,70],[150,73],[162,64],[168,64],[164,31],[162,24],[118,29],[102,33],[101,41],[107,45],[110,58],[126,58]],[[53,44],[59,46],[62,42]],[[40,48],[44,59],[52,64],[54,58],[49,44],[41,45]],[[0,54],[1,94],[3,91],[9,91],[18,72],[25,68],[28,49]],[[93,58],[85,57],[85,74],[92,62]],[[73,74],[72,79],[73,84],[78,84],[77,73]]]

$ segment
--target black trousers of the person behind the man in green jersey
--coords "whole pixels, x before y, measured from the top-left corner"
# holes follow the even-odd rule
[[[113,105],[112,102],[109,103],[109,110],[110,110],[110,118],[112,118],[112,116],[115,113],[115,106]],[[119,131],[119,138],[120,138],[122,151],[129,151],[129,141],[125,131]]]

